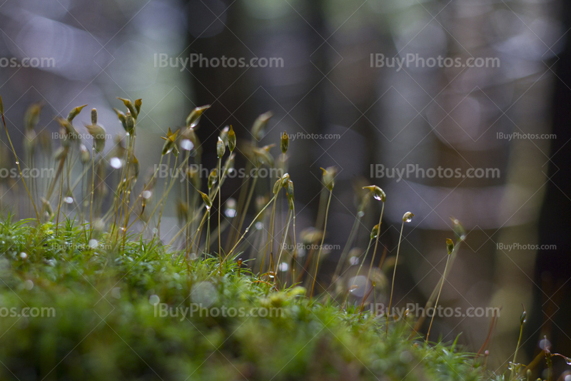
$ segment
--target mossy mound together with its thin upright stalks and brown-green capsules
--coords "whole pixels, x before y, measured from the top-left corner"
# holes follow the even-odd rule
[[[233,129],[223,129],[218,165],[205,186],[191,163],[201,162],[194,130],[208,106],[195,108],[185,128],[174,133],[169,128],[161,152],[161,163],[164,159],[185,181],[173,176],[158,187],[157,170],[141,186],[135,142],[142,102],[121,101],[126,112],[116,113],[125,134],[108,153],[105,129],[91,111],[91,124],[85,126],[93,136],[91,155],[73,124],[84,106],[58,118],[62,138],[54,153],[36,146],[41,105],[26,112],[26,163],[33,166],[49,156],[54,172],[44,182],[26,183],[21,176],[35,218],[16,222],[7,215],[0,223],[1,380],[529,379],[515,359],[496,374],[485,369],[486,355],[462,352],[454,342],[428,342],[432,321],[424,336],[419,333],[423,318],[368,311],[365,302],[375,295],[386,255],[373,268],[386,198],[378,186],[366,186],[360,194],[359,213],[331,284],[316,282],[335,168],[323,170],[318,220],[299,237],[320,244],[303,256],[295,237],[293,180],[286,171],[288,135],[283,133],[277,159],[272,146],[257,146],[271,113],[256,119],[253,138],[238,143],[241,149]],[[1,98],[0,113],[21,174],[23,161],[11,143]],[[244,179],[237,205],[226,202],[233,213],[221,220],[220,189],[233,171],[235,150],[246,156],[254,175]],[[258,181],[263,167],[281,172]],[[101,180],[106,171],[118,175],[112,186]],[[161,216],[173,187],[183,228],[166,243]],[[357,288],[346,283],[345,273],[353,267],[348,253],[363,214],[374,213],[371,199],[381,203],[381,211],[359,258],[357,275],[373,248],[367,289],[355,300],[348,297]],[[247,218],[251,201],[255,217]],[[212,233],[211,217],[218,220]],[[413,213],[403,215],[401,237],[411,218]],[[427,308],[438,305],[464,239],[458,220],[453,226],[457,240],[447,241],[446,268]],[[399,250],[400,238],[393,287]],[[389,311],[392,299],[393,288]]]

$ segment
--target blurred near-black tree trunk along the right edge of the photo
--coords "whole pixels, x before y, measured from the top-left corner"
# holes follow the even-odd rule
[[[561,21],[565,31],[571,27],[571,4],[562,4]],[[552,131],[550,161],[545,203],[539,220],[540,250],[535,266],[535,285],[530,340],[527,351],[537,355],[538,342],[547,336],[552,352],[571,353],[571,310],[569,300],[571,277],[571,39],[567,35],[565,49],[559,54],[552,99]],[[542,249],[542,245],[544,246]],[[548,245],[555,245],[555,250]],[[541,290],[540,290],[541,288]],[[540,327],[537,330],[537,327]],[[543,364],[543,363],[542,363]],[[564,366],[554,362],[554,365]],[[562,371],[556,369],[555,374]]]

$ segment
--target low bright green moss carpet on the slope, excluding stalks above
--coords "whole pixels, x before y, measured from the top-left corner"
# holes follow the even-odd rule
[[[385,337],[383,319],[275,290],[232,260],[187,267],[161,245],[113,250],[105,236],[91,248],[71,221],[56,234],[8,219],[0,232],[2,380],[487,377],[457,347],[408,340],[406,322]]]

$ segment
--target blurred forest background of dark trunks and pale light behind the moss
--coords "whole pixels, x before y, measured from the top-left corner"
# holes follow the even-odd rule
[[[325,241],[340,248],[357,213],[355,186],[381,186],[381,243],[389,255],[403,213],[417,216],[405,226],[395,300],[423,305],[443,272],[454,215],[468,235],[440,303],[502,308],[489,360],[500,367],[513,355],[522,304],[530,318],[520,360],[532,359],[543,335],[553,350],[571,355],[568,7],[555,0],[0,0],[0,57],[55,59],[49,68],[0,68],[0,93],[17,149],[30,103],[44,102],[43,133],[58,131],[55,116],[87,103],[114,135],[122,131],[112,110],[121,106],[116,96],[143,98],[136,153],[143,170],[158,163],[159,137],[204,104],[212,107],[198,136],[208,166],[216,164],[221,128],[231,124],[238,139],[249,139],[251,123],[269,110],[262,145],[278,143],[283,131],[321,134],[290,141],[289,172],[302,205],[297,229],[315,223],[320,167],[339,170]],[[283,67],[161,68],[156,54],[277,57]],[[371,67],[371,54],[495,57],[501,65],[398,71]],[[88,123],[89,113],[78,118]],[[498,133],[555,138],[510,141]],[[1,148],[1,166],[9,168],[9,151]],[[397,181],[373,178],[375,164],[499,168],[501,176]],[[238,157],[236,167],[243,165]],[[223,198],[237,198],[239,181],[228,184]],[[11,186],[1,184],[4,205],[16,202]],[[360,247],[380,210],[372,211],[363,218]],[[174,202],[166,214],[165,223],[176,226]],[[505,250],[500,243],[557,250]],[[340,251],[328,253],[320,277],[330,276]],[[460,342],[477,351],[490,320],[439,318],[435,329],[447,341],[462,332]]]

